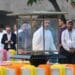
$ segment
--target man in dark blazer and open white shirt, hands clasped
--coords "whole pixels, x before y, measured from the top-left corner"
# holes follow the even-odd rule
[[[11,32],[10,26],[6,26],[6,33],[2,37],[2,44],[4,44],[4,49],[16,49],[16,34]]]

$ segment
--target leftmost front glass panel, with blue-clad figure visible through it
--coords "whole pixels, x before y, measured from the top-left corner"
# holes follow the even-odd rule
[[[31,23],[29,17],[21,18],[18,29],[18,53],[27,54],[32,50],[31,47]]]

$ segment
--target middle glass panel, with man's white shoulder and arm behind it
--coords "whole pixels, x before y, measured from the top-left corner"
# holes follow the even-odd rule
[[[32,21],[32,51],[35,52],[35,54],[44,50],[42,20],[41,18],[36,18]]]

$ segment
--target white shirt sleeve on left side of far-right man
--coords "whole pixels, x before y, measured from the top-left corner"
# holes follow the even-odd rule
[[[66,39],[65,39],[65,38],[66,38]],[[62,44],[62,46],[63,46],[63,48],[64,48],[65,50],[69,50],[67,41],[68,41],[68,38],[67,38],[66,32],[63,31],[63,32],[62,32],[62,35],[61,35],[61,44]]]

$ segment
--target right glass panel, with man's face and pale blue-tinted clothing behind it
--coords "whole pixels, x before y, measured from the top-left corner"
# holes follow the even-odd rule
[[[56,19],[44,20],[45,51],[55,51],[57,45],[57,23]]]

